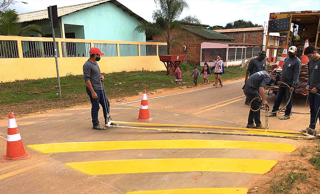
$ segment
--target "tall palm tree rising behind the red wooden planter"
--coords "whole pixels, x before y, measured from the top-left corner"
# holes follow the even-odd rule
[[[180,15],[184,9],[189,9],[186,0],[155,0],[160,9],[153,11],[153,22],[143,22],[135,28],[139,33],[146,33],[148,35],[161,35],[167,42],[167,54],[170,55],[171,46],[178,45],[182,48],[179,39],[188,38],[193,39],[192,33],[181,31],[183,24],[194,23],[200,24],[200,20],[196,16],[187,16],[180,19]],[[179,34],[171,37],[171,32],[176,30]]]

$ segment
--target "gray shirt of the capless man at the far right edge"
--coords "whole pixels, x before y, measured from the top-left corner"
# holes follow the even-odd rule
[[[320,59],[308,62],[308,85],[320,90]]]

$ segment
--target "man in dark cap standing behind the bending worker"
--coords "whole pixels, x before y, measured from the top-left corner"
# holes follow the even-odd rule
[[[251,76],[259,71],[264,71],[266,69],[266,60],[265,60],[266,56],[267,56],[266,51],[262,50],[259,53],[259,56],[257,58],[251,59],[251,61],[248,64],[247,73],[245,74],[244,83],[247,82],[248,76]],[[250,104],[248,98],[245,99],[244,104],[246,105]]]

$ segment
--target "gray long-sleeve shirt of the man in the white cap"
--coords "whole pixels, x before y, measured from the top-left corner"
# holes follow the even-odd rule
[[[295,88],[298,83],[301,65],[301,61],[298,57],[292,60],[290,60],[289,57],[285,58],[280,81]]]

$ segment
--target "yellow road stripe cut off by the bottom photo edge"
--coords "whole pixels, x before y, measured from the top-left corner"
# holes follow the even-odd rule
[[[172,190],[132,191],[126,194],[246,194],[247,188],[196,188]]]

